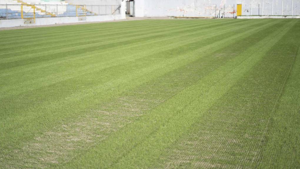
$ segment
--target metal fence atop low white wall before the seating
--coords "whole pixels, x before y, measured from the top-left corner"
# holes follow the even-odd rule
[[[120,14],[120,5],[10,5],[0,4],[0,19],[80,17]]]

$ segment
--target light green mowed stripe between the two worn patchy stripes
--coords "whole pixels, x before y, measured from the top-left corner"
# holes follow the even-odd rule
[[[284,24],[281,25],[281,27],[283,27]],[[277,32],[280,32],[282,29],[279,29]],[[262,32],[262,33],[266,33],[266,32]],[[263,35],[263,34],[261,34]],[[276,34],[275,34],[276,35]],[[273,36],[271,37],[273,38]],[[269,41],[271,38],[266,38],[265,41]],[[278,39],[279,40],[279,39]],[[246,65],[248,63],[245,63]],[[223,71],[223,70],[222,70]],[[247,71],[247,69],[246,69]],[[210,76],[208,76],[210,77]],[[229,76],[230,77],[230,76]],[[218,80],[216,80],[218,81]],[[208,84],[208,86],[211,85],[211,82]],[[197,86],[197,85],[195,85]],[[207,89],[207,88],[204,88]],[[199,92],[202,92],[202,90],[199,90]],[[212,90],[214,91],[214,90]],[[184,93],[187,96],[191,97],[191,93],[197,92],[197,89],[191,89],[189,92],[187,90],[184,90]],[[203,94],[205,95],[205,94]],[[215,95],[213,95],[215,96]],[[178,99],[181,98],[181,99]],[[95,163],[100,164],[101,166],[106,166],[106,167],[110,167],[109,164],[116,164],[116,159],[118,159],[118,156],[121,157],[125,157],[125,159],[121,159],[120,165],[116,164],[116,168],[120,167],[121,165],[123,165],[123,167],[130,167],[130,165],[133,165],[132,167],[137,167],[137,166],[143,166],[146,167],[144,165],[151,165],[151,160],[148,160],[148,158],[157,158],[157,155],[160,154],[160,149],[159,149],[159,145],[163,144],[161,147],[164,147],[166,145],[164,144],[171,144],[172,140],[174,141],[175,138],[174,136],[172,136],[172,134],[178,134],[178,136],[180,136],[179,133],[184,133],[184,125],[190,125],[191,122],[193,122],[191,119],[195,118],[195,116],[197,116],[197,114],[192,113],[188,110],[188,105],[190,105],[191,100],[198,100],[199,98],[189,98],[186,100],[186,102],[183,98],[185,98],[184,96],[180,95],[177,96],[174,99],[171,99],[172,101],[176,101],[176,103],[174,104],[167,104],[168,108],[164,107],[164,108],[160,108],[159,110],[155,111],[157,113],[151,113],[152,116],[146,116],[143,117],[143,120],[137,121],[135,122],[133,125],[129,125],[130,127],[128,128],[124,128],[124,130],[116,133],[116,135],[110,137],[111,140],[107,140],[107,142],[105,142],[105,144],[101,144],[101,148],[98,146],[95,149],[91,149],[89,153],[87,153],[87,155],[85,156],[86,158],[82,158],[82,156],[80,156],[80,158],[82,160],[80,160],[79,158],[76,158],[76,160],[79,160],[78,163],[76,163],[76,165],[81,165],[80,163],[82,163],[83,165],[87,165],[88,166],[88,158],[92,158],[90,155],[93,154],[93,152],[102,152],[102,153],[97,153],[97,154],[105,154],[104,156],[99,156],[99,158],[102,159],[102,161],[97,161]],[[205,98],[207,99],[207,98]],[[180,102],[179,102],[180,101]],[[182,103],[183,102],[183,103]],[[213,101],[212,101],[213,102]],[[208,101],[209,103],[209,101]],[[164,105],[164,104],[163,104]],[[176,105],[176,107],[173,108],[173,105]],[[196,106],[194,104],[192,104],[193,106]],[[185,107],[187,106],[187,107]],[[160,106],[161,107],[161,106]],[[180,108],[179,108],[180,107]],[[177,110],[177,108],[179,108],[179,110]],[[195,108],[195,107],[194,107]],[[175,110],[174,110],[175,109]],[[164,112],[164,110],[167,110],[167,112]],[[185,112],[185,113],[184,113]],[[177,114],[178,113],[178,114]],[[189,113],[189,114],[187,114]],[[174,116],[177,115],[177,116]],[[199,115],[198,115],[199,116]],[[176,118],[177,117],[177,118]],[[168,119],[168,120],[166,120]],[[172,119],[174,119],[174,121],[172,121]],[[186,119],[186,120],[185,120]],[[170,122],[168,122],[170,120]],[[166,122],[167,121],[167,122]],[[143,125],[142,125],[143,123]],[[164,123],[167,123],[164,125]],[[140,127],[137,129],[136,126],[140,125]],[[141,127],[142,126],[142,127]],[[176,127],[178,126],[178,127]],[[179,127],[181,126],[181,127]],[[134,129],[135,128],[135,129]],[[162,130],[161,132],[154,132],[152,133],[152,131],[155,131],[155,128],[159,128],[160,130]],[[135,133],[138,133],[137,135],[139,135],[139,137],[134,137],[135,134],[133,135],[132,131],[134,129]],[[156,135],[152,137],[152,134]],[[140,137],[141,135],[141,137]],[[164,137],[162,137],[164,136]],[[170,137],[168,137],[170,136]],[[164,142],[164,141],[165,142]],[[113,146],[109,145],[110,143],[114,143],[112,144]],[[106,144],[107,143],[107,144]],[[135,143],[134,145],[132,145],[132,143]],[[147,146],[145,146],[147,144]],[[120,147],[116,146],[116,145],[122,145],[122,147],[126,147],[128,148],[128,150],[131,150],[131,153],[129,153],[129,155],[126,155],[124,148],[122,148],[122,152],[120,152]],[[153,146],[153,147],[152,147]],[[156,148],[154,148],[156,147]],[[133,150],[131,149],[133,148]],[[151,151],[150,151],[151,149]],[[111,156],[109,156],[108,154],[112,153]],[[116,153],[116,154],[115,154]],[[135,157],[133,157],[135,156]],[[143,158],[143,160],[141,159]],[[105,161],[104,159],[107,159],[107,161]],[[74,161],[70,162],[70,164],[74,164]],[[94,164],[95,164],[94,163]],[[143,164],[142,164],[143,163]],[[96,165],[97,165],[96,164]],[[128,165],[126,165],[128,164]],[[136,166],[134,166],[136,165]],[[77,166],[78,167],[78,166]],[[148,166],[149,167],[149,166]]]

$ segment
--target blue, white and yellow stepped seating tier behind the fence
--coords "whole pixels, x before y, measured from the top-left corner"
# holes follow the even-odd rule
[[[104,5],[105,3],[103,5],[84,5],[82,1],[71,2],[0,0],[0,19],[32,18],[34,13],[36,18],[107,15],[117,11],[120,5],[115,1],[106,3],[106,5]]]

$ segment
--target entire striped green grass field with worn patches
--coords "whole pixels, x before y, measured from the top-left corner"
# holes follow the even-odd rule
[[[0,168],[299,168],[300,20],[0,31]]]

